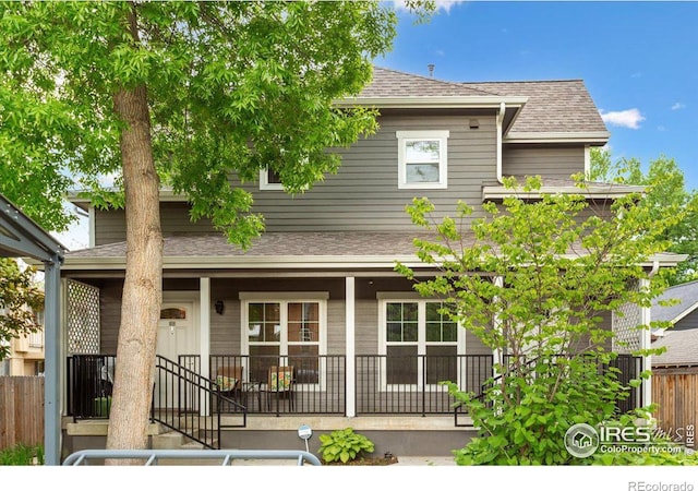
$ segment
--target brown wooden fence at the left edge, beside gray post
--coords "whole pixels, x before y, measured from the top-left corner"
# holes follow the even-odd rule
[[[0,376],[0,450],[44,445],[44,378]]]

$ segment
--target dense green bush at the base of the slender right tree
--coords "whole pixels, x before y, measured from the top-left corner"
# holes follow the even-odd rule
[[[583,357],[541,362],[530,374],[509,372],[485,391],[484,400],[448,385],[478,429],[477,438],[454,451],[458,465],[590,464],[566,451],[566,431],[616,420],[615,400],[627,394],[615,372],[599,374],[595,359]]]

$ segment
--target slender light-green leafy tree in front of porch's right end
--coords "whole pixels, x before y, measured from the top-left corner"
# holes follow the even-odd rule
[[[665,250],[665,230],[684,212],[676,205],[659,216],[631,194],[601,216],[588,213],[581,190],[531,201],[516,190],[535,192],[540,179],[506,185],[514,195],[483,204],[478,219],[460,203],[457,217],[436,223],[429,200],[416,199],[408,207],[413,223],[434,233],[414,241],[418,255],[438,274],[419,280],[406,265],[396,268],[422,296],[444,299],[444,312],[498,354],[500,375],[484,396],[449,384],[479,429],[457,462],[579,464],[564,447],[567,429],[617,417],[627,394],[610,368],[613,334],[603,316],[627,303],[649,306],[659,295],[665,282],[640,264]],[[639,290],[629,288],[642,280]]]

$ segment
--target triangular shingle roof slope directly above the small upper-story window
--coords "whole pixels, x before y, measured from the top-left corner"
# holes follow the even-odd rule
[[[381,67],[359,97],[492,96],[488,91],[433,77],[412,75]]]

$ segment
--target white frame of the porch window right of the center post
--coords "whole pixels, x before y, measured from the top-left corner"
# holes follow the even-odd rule
[[[436,345],[435,343],[426,343],[426,303],[442,302],[440,299],[423,298],[418,294],[409,292],[380,292],[378,299],[378,355],[386,356],[388,346],[393,345],[387,340],[387,304],[410,302],[417,303],[417,322],[418,322],[418,336],[417,336],[417,355],[426,356],[426,346]],[[466,354],[466,333],[460,325],[456,326],[457,337],[455,342],[441,343],[442,346],[456,346],[456,355]],[[406,344],[395,343],[394,346],[407,346]],[[383,392],[416,392],[422,386],[424,373],[418,370],[417,384],[388,384],[387,383],[387,363],[383,363],[380,373],[380,387]],[[458,372],[458,384],[460,384],[460,371]],[[436,384],[426,384],[430,391],[444,391],[448,388]]]

